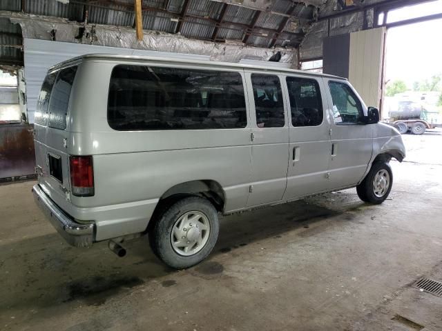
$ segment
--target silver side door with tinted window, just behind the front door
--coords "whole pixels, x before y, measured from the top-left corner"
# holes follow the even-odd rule
[[[284,199],[327,190],[330,155],[329,120],[323,105],[327,91],[321,78],[287,76],[290,159]]]

